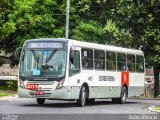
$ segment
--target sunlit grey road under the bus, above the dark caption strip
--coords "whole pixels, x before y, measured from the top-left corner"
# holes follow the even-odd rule
[[[104,116],[104,118],[106,118],[105,114],[108,114],[111,118],[116,117],[115,114],[123,114],[121,116],[122,119],[128,119],[130,114],[157,114],[148,110],[149,106],[154,105],[160,105],[160,100],[128,99],[126,104],[112,104],[110,99],[104,99],[102,101],[96,100],[93,104],[88,104],[82,108],[77,107],[76,102],[47,100],[45,105],[37,105],[35,99],[14,98],[11,100],[0,100],[0,114],[34,114],[36,116],[38,114],[50,114],[47,116],[50,116],[49,118],[51,119],[53,118],[53,114],[63,114],[60,115],[60,119],[63,117],[66,119],[64,114],[68,114],[69,120],[74,118],[74,115],[88,116],[88,114],[90,114],[93,116],[89,117],[89,119],[93,120],[96,116]],[[124,114],[126,114],[126,116]],[[39,118],[43,118],[44,116],[46,115],[40,115]]]

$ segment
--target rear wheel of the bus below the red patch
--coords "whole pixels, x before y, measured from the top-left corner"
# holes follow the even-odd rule
[[[120,98],[117,99],[117,102],[119,104],[124,104],[124,103],[126,103],[126,99],[127,99],[127,88],[126,87],[122,87],[121,95],[120,95]]]

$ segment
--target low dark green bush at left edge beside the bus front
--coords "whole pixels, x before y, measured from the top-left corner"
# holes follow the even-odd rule
[[[0,81],[0,90],[17,91],[17,81],[13,80]]]

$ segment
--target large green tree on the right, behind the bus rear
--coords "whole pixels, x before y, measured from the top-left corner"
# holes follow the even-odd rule
[[[83,11],[83,14],[79,14],[83,20],[96,21],[96,24],[103,28],[98,30],[98,33],[101,31],[100,41],[96,41],[144,51],[146,65],[154,68],[157,96],[160,68],[160,3],[157,0],[80,0],[77,5],[80,6],[79,10]],[[80,34],[83,36],[83,32]],[[93,34],[96,36],[95,32]]]

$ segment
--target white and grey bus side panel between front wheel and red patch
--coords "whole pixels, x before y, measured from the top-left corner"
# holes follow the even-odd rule
[[[121,90],[120,72],[83,70],[83,79],[89,85],[89,98],[119,97]],[[92,79],[90,80],[89,78]]]

